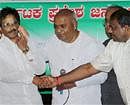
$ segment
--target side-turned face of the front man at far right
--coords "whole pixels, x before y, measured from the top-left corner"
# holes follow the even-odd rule
[[[111,37],[114,41],[126,42],[128,40],[127,26],[121,27],[116,19],[110,21]]]

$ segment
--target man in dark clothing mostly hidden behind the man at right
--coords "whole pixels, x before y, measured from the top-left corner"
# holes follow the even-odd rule
[[[115,11],[123,9],[121,6],[109,6],[106,10],[105,14],[105,32],[109,39],[105,40],[103,44],[106,46],[108,42],[111,40],[111,33],[109,33],[110,29],[110,16]],[[119,87],[116,80],[116,75],[114,70],[112,69],[108,73],[107,80],[101,85],[102,90],[102,103],[103,105],[123,105],[123,100],[120,95]]]

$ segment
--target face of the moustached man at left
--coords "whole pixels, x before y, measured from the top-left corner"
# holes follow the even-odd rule
[[[7,15],[5,19],[2,20],[2,33],[10,39],[18,35],[18,27],[19,24],[13,15]]]

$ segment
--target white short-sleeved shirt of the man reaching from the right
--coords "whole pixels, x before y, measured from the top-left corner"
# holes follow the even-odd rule
[[[114,68],[123,100],[130,105],[130,40],[126,43],[111,40],[105,51],[91,64],[100,71],[109,72]]]

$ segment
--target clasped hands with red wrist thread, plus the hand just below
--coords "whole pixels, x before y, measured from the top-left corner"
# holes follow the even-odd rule
[[[52,77],[52,76],[35,76],[33,78],[33,84],[37,85],[39,88],[54,88],[57,87],[57,90],[71,89],[75,87],[74,82],[62,83],[62,79],[60,76]]]

